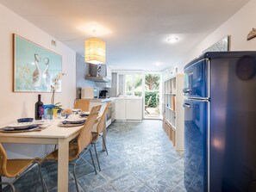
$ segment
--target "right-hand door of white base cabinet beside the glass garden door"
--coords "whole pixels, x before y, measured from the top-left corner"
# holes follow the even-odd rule
[[[142,120],[142,99],[126,100],[126,119]]]

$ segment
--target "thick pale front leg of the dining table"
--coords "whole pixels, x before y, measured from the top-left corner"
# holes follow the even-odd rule
[[[68,192],[69,141],[59,139],[58,145],[58,192]]]

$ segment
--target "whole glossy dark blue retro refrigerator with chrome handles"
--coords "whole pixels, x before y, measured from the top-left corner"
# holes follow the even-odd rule
[[[256,52],[204,53],[184,67],[188,192],[256,191]]]

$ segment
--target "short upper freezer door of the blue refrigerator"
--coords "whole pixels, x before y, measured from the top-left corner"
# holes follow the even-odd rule
[[[209,60],[203,59],[184,69],[184,95],[209,97]]]

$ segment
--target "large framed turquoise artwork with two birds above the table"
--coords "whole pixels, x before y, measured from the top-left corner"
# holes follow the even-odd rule
[[[62,71],[62,57],[14,34],[14,91],[51,92],[53,78]],[[61,91],[61,83],[59,84]]]

